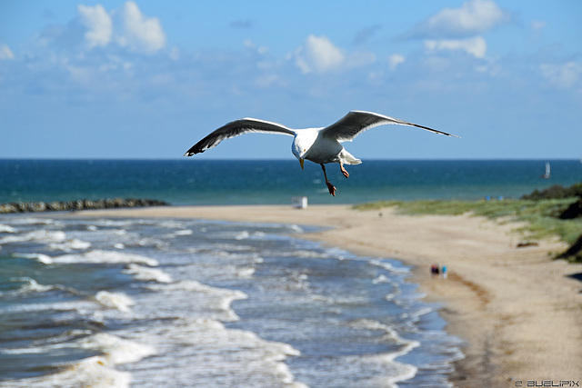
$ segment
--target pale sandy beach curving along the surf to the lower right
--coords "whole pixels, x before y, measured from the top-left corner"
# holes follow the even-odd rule
[[[456,363],[458,387],[527,386],[582,380],[582,265],[554,261],[562,243],[517,248],[516,224],[482,217],[401,215],[349,205],[172,206],[77,214],[185,217],[254,223],[305,224],[326,229],[305,238],[355,254],[391,257],[415,268],[411,282],[443,303],[447,332],[466,343]],[[447,279],[431,264],[446,264]]]

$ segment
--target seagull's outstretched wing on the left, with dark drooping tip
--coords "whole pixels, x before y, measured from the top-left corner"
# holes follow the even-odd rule
[[[292,129],[281,124],[271,123],[256,118],[243,118],[223,125],[213,133],[208,134],[204,139],[200,140],[198,143],[194,144],[192,148],[186,151],[184,156],[203,153],[208,148],[216,147],[216,145],[220,144],[223,140],[230,139],[239,134],[247,134],[251,132],[295,135],[295,132]]]

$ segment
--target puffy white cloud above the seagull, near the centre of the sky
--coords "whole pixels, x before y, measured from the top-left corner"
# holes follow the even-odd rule
[[[326,36],[307,36],[295,54],[296,65],[304,74],[326,73],[343,65],[346,57]]]

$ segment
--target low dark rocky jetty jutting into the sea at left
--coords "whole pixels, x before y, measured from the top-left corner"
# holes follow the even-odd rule
[[[105,198],[80,199],[76,201],[16,202],[0,204],[0,214],[28,212],[67,212],[76,210],[115,209],[122,207],[167,206],[168,203],[156,199]]]

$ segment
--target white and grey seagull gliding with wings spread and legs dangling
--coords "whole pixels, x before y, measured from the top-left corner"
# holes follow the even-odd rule
[[[407,126],[416,126],[417,128],[426,129],[426,131],[435,134],[445,134],[447,136],[458,137],[455,134],[437,131],[427,126],[408,123],[394,117],[384,114],[375,114],[364,111],[351,111],[334,124],[324,128],[306,128],[291,129],[285,125],[272,123],[256,118],[242,118],[216,129],[208,134],[204,139],[194,144],[184,156],[192,156],[205,152],[208,148],[216,147],[223,140],[238,136],[239,134],[264,133],[264,134],[288,134],[293,136],[291,151],[299,160],[301,168],[309,160],[313,163],[320,164],[326,178],[326,186],[329,194],[336,196],[336,186],[334,186],[326,174],[326,164],[338,163],[339,169],[344,176],[349,174],[344,168],[344,164],[360,164],[361,160],[348,153],[340,143],[351,142],[358,134],[384,124],[400,124]]]

